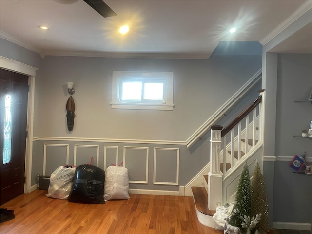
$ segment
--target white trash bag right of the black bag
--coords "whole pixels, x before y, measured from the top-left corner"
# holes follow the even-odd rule
[[[125,200],[129,198],[128,169],[117,166],[109,166],[106,168],[104,200]]]

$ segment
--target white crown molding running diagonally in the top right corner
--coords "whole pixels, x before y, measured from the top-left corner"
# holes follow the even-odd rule
[[[294,21],[298,20],[302,15],[308,12],[312,8],[312,0],[305,1],[301,6],[299,6],[286,20],[277,25],[267,36],[261,39],[259,42],[262,45],[267,44],[269,41],[274,39],[278,34],[284,31],[288,26],[290,26]]]

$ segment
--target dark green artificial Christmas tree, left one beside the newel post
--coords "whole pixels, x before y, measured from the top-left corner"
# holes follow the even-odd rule
[[[235,204],[233,207],[233,213],[230,218],[230,224],[236,227],[242,228],[242,217],[244,215],[251,216],[252,214],[252,202],[251,202],[251,187],[250,177],[248,171],[247,162],[245,162],[242,174],[239,178],[237,192],[235,197]]]

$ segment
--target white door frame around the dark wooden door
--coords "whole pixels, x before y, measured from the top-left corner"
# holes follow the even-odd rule
[[[33,157],[33,130],[34,130],[34,100],[35,100],[35,77],[39,68],[21,63],[19,61],[0,56],[0,68],[21,73],[28,76],[28,106],[27,106],[27,131],[25,153],[25,177],[24,193],[28,194],[37,188],[37,184],[31,186],[31,168]]]

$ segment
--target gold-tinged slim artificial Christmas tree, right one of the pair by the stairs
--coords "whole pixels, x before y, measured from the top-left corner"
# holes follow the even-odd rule
[[[265,194],[264,180],[259,164],[255,166],[254,176],[251,185],[252,193],[252,215],[261,214],[261,219],[256,225],[256,229],[261,232],[269,230],[269,210],[267,196]]]

